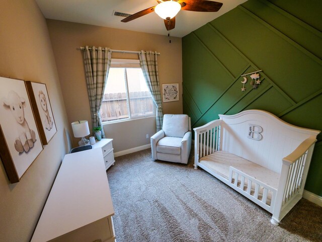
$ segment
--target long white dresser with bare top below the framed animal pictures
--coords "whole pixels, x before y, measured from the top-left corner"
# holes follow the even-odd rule
[[[113,204],[97,149],[65,155],[32,242],[115,241]]]

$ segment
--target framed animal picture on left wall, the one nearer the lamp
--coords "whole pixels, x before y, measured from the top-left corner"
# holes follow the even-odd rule
[[[56,134],[54,115],[51,110],[46,84],[26,81],[26,87],[35,114],[36,124],[43,145]]]

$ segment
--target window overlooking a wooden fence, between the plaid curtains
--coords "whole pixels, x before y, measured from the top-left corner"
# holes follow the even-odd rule
[[[155,115],[138,59],[112,59],[100,114],[102,122]]]

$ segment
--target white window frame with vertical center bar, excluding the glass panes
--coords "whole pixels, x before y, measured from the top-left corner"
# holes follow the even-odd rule
[[[124,69],[124,81],[125,81],[125,89],[126,89],[126,106],[127,106],[127,111],[128,111],[128,117],[127,118],[110,120],[110,121],[102,121],[102,124],[103,125],[105,125],[105,124],[114,124],[114,123],[121,123],[121,122],[129,121],[129,120],[136,120],[136,119],[141,119],[141,118],[155,117],[155,115],[156,115],[156,108],[155,108],[155,103],[153,102],[153,99],[152,99],[152,103],[153,103],[153,113],[151,113],[151,114],[144,114],[144,115],[135,116],[135,117],[133,117],[132,114],[131,114],[131,108],[130,108],[130,92],[129,92],[129,85],[128,85],[127,69],[130,69],[130,68],[141,69],[139,59],[112,58],[111,59],[110,69],[111,68],[122,68],[122,69]],[[105,94],[105,90],[104,90],[104,94]],[[152,94],[151,94],[151,97],[152,97]],[[101,112],[101,110],[99,112]]]

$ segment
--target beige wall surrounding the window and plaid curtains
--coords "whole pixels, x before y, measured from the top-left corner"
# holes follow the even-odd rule
[[[160,52],[158,56],[160,88],[162,88],[162,84],[179,83],[180,94],[182,94],[181,38],[172,37],[172,43],[170,44],[167,36],[156,34],[57,20],[47,20],[47,25],[69,123],[85,119],[89,120],[90,129],[92,127],[82,53],[77,50],[81,46],[94,45],[119,50],[137,51],[143,49]],[[112,57],[138,58],[136,54],[123,53],[113,53]],[[180,97],[179,101],[164,103],[164,113],[182,113],[182,96]],[[151,118],[147,120],[140,119],[135,122],[106,125],[104,130],[108,138],[114,139],[114,148],[118,152],[148,144],[149,139],[146,139],[145,135],[155,132],[155,126],[153,126],[151,123],[153,121],[151,120]],[[132,126],[140,127],[140,129],[133,129]],[[130,130],[131,133],[125,133],[125,130]],[[121,131],[121,133],[118,131]],[[135,140],[141,136],[144,139],[139,142]],[[129,137],[131,138],[129,139]],[[77,146],[77,140],[79,139],[73,139],[74,146]],[[119,146],[118,144],[124,144],[124,146]]]

